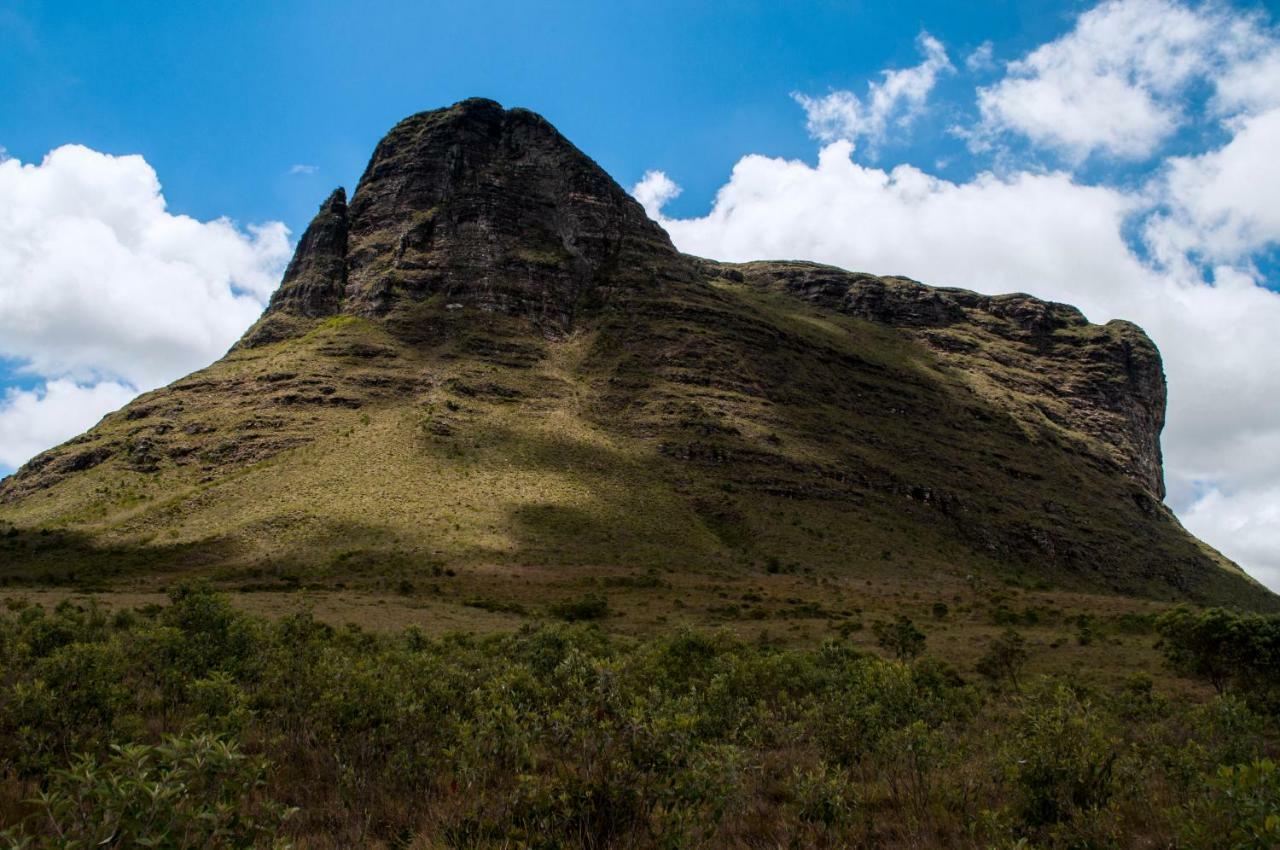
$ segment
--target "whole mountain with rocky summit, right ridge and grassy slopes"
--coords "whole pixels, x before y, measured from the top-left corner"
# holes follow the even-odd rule
[[[1253,608],[1162,504],[1124,321],[680,253],[527,110],[397,124],[262,317],[0,484],[5,577],[634,566]]]

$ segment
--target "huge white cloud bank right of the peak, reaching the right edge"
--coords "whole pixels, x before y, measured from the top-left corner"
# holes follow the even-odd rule
[[[801,100],[824,142],[817,164],[744,156],[701,218],[662,216],[680,187],[660,172],[635,192],[690,253],[1030,292],[1093,321],[1137,321],[1169,378],[1170,506],[1280,590],[1280,293],[1260,270],[1280,245],[1276,44],[1263,20],[1217,6],[1106,3],[975,90],[968,134],[996,150],[992,170],[968,180],[861,164],[856,133],[815,127]],[[1213,92],[1198,111],[1181,96],[1193,81]],[[1076,172],[1093,152],[1155,155],[1194,122],[1225,132],[1225,143],[1166,157],[1124,184]],[[1061,164],[1009,168],[1002,134]]]

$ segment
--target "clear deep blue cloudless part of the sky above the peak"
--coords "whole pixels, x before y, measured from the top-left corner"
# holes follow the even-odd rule
[[[547,115],[620,182],[678,175],[701,211],[749,147],[812,159],[795,91],[856,87],[916,60],[922,29],[1015,56],[1079,3],[108,3],[0,4],[0,140],[38,161],[79,142],[142,154],[175,211],[280,219],[294,232],[352,187],[407,114],[468,96]],[[946,81],[963,88],[963,81]],[[963,150],[947,115],[887,147]],[[293,165],[312,174],[289,174]],[[957,156],[943,170],[977,165]]]

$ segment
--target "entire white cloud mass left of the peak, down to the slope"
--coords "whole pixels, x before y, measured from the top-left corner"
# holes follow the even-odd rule
[[[47,381],[0,398],[0,466],[219,357],[288,256],[280,223],[169,212],[141,156],[0,160],[0,357]]]

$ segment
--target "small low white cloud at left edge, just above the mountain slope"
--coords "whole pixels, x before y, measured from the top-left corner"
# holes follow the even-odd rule
[[[132,387],[115,381],[82,387],[65,379],[51,380],[38,390],[8,390],[0,397],[0,466],[19,466],[88,430],[136,394]]]

